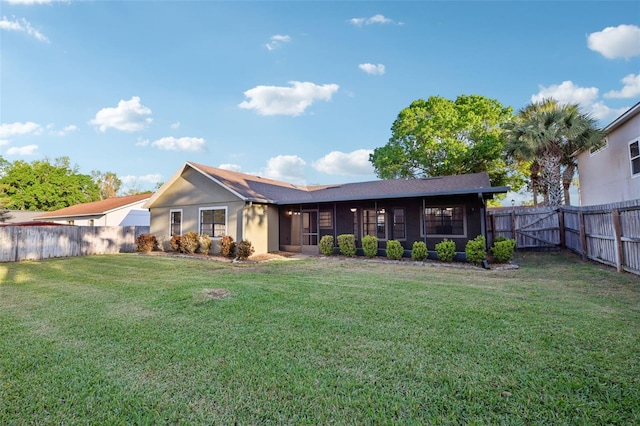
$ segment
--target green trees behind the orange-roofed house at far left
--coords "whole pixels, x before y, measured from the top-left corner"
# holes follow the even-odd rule
[[[68,157],[5,164],[0,186],[8,200],[4,207],[15,210],[51,211],[100,199],[91,176],[79,173]]]

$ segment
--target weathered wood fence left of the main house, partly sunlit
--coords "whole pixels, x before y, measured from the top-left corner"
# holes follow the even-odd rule
[[[0,226],[0,262],[131,253],[148,226]]]

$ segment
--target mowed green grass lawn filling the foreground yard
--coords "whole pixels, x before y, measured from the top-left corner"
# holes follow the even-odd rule
[[[0,424],[640,423],[640,279],[517,261],[0,264]]]

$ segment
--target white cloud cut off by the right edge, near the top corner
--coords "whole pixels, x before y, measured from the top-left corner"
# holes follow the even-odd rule
[[[630,58],[640,55],[640,27],[636,25],[618,25],[589,34],[589,49],[600,53],[607,59]]]

